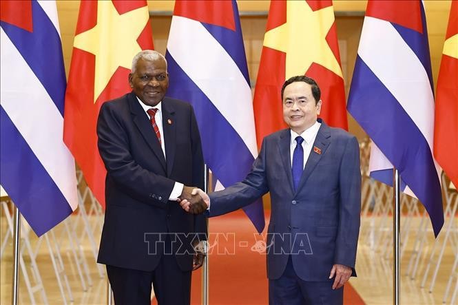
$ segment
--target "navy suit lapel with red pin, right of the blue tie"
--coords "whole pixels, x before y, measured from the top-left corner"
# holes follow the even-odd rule
[[[324,123],[324,121],[321,120],[320,129],[318,129],[318,134],[315,138],[315,142],[313,143],[313,147],[310,151],[309,159],[305,164],[304,171],[302,172],[302,176],[299,180],[298,190],[301,189],[302,185],[304,185],[306,180],[311,175],[313,169],[315,169],[316,165],[318,165],[318,162],[320,162],[322,156],[324,155],[326,149],[329,146],[329,143],[331,142],[330,138],[331,134],[329,133],[329,127]],[[319,149],[320,154],[314,151],[315,147]]]

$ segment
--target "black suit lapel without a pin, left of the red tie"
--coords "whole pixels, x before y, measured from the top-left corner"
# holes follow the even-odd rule
[[[159,140],[156,137],[156,134],[154,134],[154,129],[148,120],[147,114],[145,114],[145,111],[138,103],[134,93],[129,94],[129,107],[134,123],[140,131],[140,134],[143,136],[143,138],[145,138],[149,147],[152,149],[160,161],[160,165],[162,165],[165,170],[165,158],[163,150],[160,148]]]

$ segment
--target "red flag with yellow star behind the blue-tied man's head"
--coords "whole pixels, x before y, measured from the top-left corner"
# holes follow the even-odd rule
[[[332,1],[271,1],[253,101],[258,147],[264,136],[286,127],[280,90],[297,75],[320,86],[320,117],[347,129]]]

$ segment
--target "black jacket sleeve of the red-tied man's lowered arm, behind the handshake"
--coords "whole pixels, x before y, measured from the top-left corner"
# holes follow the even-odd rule
[[[199,189],[204,189],[204,157],[202,154],[202,143],[194,115],[194,109],[191,107],[191,143],[192,143],[192,175],[193,185]],[[194,232],[199,234],[199,240],[207,240],[207,216],[204,214],[194,215]]]

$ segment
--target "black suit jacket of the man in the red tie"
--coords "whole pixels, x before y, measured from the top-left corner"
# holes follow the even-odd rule
[[[163,255],[165,233],[171,233],[178,265],[189,271],[193,254],[189,243],[194,233],[200,233],[200,239],[207,233],[203,215],[185,213],[177,202],[168,200],[176,181],[200,188],[204,184],[194,110],[188,103],[165,97],[162,111],[166,158],[133,92],[101,107],[98,150],[107,169],[105,223],[97,260],[101,264],[152,271]]]

